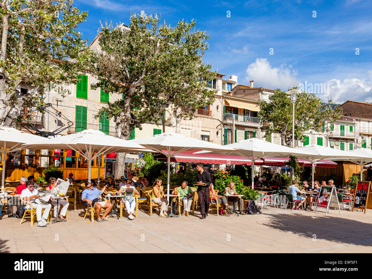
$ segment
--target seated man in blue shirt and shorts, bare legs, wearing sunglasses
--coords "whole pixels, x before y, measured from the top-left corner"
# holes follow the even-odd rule
[[[94,209],[96,209],[97,214],[97,222],[107,222],[108,219],[106,219],[106,216],[109,214],[112,203],[106,202],[106,200],[99,197],[100,194],[103,194],[103,192],[106,190],[106,186],[102,188],[102,190],[98,190],[97,188],[93,188],[92,185],[89,182],[85,183],[85,190],[83,193],[81,193],[81,200],[88,203],[89,205],[92,205]],[[105,212],[103,212],[102,218],[101,218],[101,208],[105,209]]]

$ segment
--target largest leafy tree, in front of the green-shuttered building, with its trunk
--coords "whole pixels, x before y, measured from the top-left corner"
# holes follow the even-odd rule
[[[214,72],[202,61],[208,36],[192,31],[194,21],[171,27],[159,20],[133,14],[129,27],[106,22],[98,32],[92,69],[100,82],[92,87],[122,98],[108,102],[96,117],[113,118],[122,127],[121,139],[147,121],[160,120],[165,110],[182,108],[181,117],[192,118],[196,108],[214,101],[216,91],[206,88]],[[123,169],[124,153],[118,153],[115,173]]]

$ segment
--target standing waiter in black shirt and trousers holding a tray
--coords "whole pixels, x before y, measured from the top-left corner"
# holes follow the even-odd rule
[[[206,172],[203,168],[202,164],[197,164],[196,169],[200,172],[196,175],[195,182],[205,183],[206,185],[198,186],[198,196],[199,196],[199,205],[200,205],[200,212],[202,216],[200,219],[205,219],[208,216],[208,209],[209,209],[209,185],[211,185],[211,175],[209,172]]]

